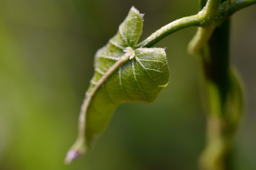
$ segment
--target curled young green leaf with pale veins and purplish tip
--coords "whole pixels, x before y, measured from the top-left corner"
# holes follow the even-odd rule
[[[125,102],[154,102],[168,84],[169,69],[162,48],[135,48],[143,15],[132,7],[118,33],[97,51],[95,73],[79,118],[79,134],[66,163],[85,153]]]

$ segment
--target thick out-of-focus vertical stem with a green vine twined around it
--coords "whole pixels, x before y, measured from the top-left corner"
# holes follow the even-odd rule
[[[229,1],[226,2],[224,7],[229,7]],[[205,3],[206,0],[201,1],[201,8]],[[217,26],[200,27],[189,44],[189,51],[201,56],[204,76],[207,145],[199,160],[200,170],[230,170],[230,151],[242,110],[242,92],[229,65],[229,28],[229,20]]]

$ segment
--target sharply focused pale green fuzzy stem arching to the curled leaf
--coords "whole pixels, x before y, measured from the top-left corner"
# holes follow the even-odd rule
[[[255,4],[256,0],[237,0],[231,3],[224,11],[219,10],[220,2],[220,0],[208,0],[206,6],[198,14],[177,19],[174,22],[163,26],[159,30],[155,31],[155,33],[147,37],[144,41],[137,44],[136,48],[152,47],[155,45],[155,43],[159,42],[169,34],[172,34],[183,28],[200,26],[204,28],[199,29],[199,33],[196,35],[198,37],[195,37],[195,39],[199,40],[199,42],[193,40],[189,48],[189,51],[192,53],[199,53],[200,48],[202,48],[205,42],[208,41],[212,31],[216,26],[218,26],[224,20],[228,19],[236,11]],[[205,3],[201,2],[201,5],[202,4]],[[195,50],[193,50],[193,48]]]

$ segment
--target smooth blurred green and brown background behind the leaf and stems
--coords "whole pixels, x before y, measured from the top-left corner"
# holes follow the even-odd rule
[[[132,5],[145,13],[142,39],[198,12],[198,0],[0,0],[0,170],[196,170],[205,117],[200,62],[186,53],[196,28],[155,45],[171,70],[155,103],[120,106],[94,148],[64,165],[94,54]],[[255,16],[256,5],[232,18],[231,61],[246,87],[234,170],[256,169]]]

